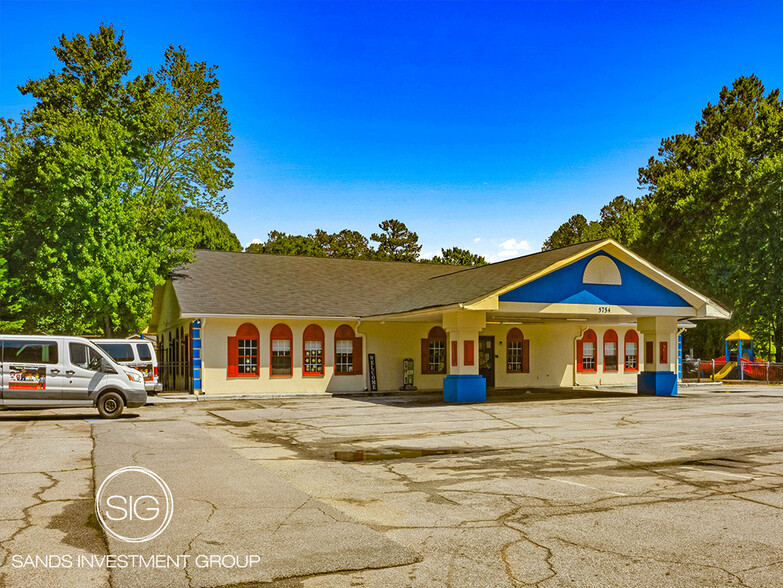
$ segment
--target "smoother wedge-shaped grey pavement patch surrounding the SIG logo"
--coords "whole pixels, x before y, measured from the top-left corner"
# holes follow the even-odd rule
[[[268,582],[418,559],[411,549],[297,490],[192,423],[119,420],[92,427],[96,488],[118,468],[139,465],[158,474],[174,499],[171,523],[159,537],[138,544],[109,537],[109,553],[191,556],[184,567],[115,568],[115,588]],[[233,555],[240,562],[258,555],[260,561],[247,568],[199,567],[199,555]]]

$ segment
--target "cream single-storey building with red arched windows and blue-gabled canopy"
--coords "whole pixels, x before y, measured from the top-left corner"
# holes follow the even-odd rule
[[[730,312],[613,240],[463,268],[197,251],[156,290],[168,389],[197,394],[638,383],[676,393],[679,319]]]

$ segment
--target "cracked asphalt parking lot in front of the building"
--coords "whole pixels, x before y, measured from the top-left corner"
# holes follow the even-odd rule
[[[2,411],[0,456],[0,586],[783,585],[781,387]],[[93,514],[127,465],[175,505],[135,546]],[[132,552],[261,562],[14,565]]]

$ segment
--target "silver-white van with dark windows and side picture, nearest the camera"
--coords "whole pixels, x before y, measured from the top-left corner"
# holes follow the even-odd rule
[[[0,406],[95,406],[104,418],[147,402],[138,370],[110,359],[82,337],[0,335]]]

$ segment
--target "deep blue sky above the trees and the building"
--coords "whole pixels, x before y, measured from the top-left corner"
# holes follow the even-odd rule
[[[639,195],[722,86],[783,83],[779,2],[0,0],[0,116],[31,105],[16,86],[57,67],[59,35],[102,22],[137,71],[169,44],[220,67],[244,244],[398,218],[426,255],[537,251]]]

